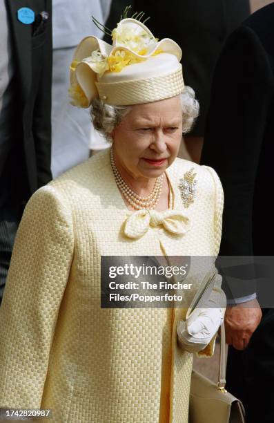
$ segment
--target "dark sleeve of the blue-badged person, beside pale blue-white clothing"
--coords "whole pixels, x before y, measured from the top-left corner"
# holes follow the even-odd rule
[[[49,13],[43,44],[32,46],[32,86],[36,88],[32,135],[37,160],[37,187],[51,179],[51,88],[52,88],[52,1],[46,1]]]

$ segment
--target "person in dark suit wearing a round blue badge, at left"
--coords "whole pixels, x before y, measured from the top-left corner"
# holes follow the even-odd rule
[[[0,2],[0,303],[23,208],[48,183],[52,2]]]

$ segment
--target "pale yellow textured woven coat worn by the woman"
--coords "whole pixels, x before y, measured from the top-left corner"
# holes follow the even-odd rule
[[[42,187],[26,206],[0,308],[0,407],[50,408],[56,423],[186,423],[192,355],[176,339],[186,310],[101,309],[100,255],[217,254],[222,186],[213,169],[175,160],[167,171],[173,209],[188,230],[173,234],[157,215],[157,225],[150,219],[129,238],[133,212],[109,153]],[[185,209],[179,178],[193,166],[197,196]],[[219,283],[212,295],[224,304]]]

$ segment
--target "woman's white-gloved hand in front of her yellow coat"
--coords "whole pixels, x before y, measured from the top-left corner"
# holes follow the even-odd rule
[[[189,353],[204,350],[224,321],[224,308],[197,308],[177,323],[179,345]]]

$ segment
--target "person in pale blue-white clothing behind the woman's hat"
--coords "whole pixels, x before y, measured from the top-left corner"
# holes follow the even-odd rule
[[[106,148],[106,141],[90,125],[88,111],[83,113],[70,104],[68,70],[79,39],[88,37],[91,33],[101,37],[102,32],[92,22],[92,16],[104,22],[109,6],[109,1],[106,0],[102,4],[100,0],[52,1],[51,169],[53,178],[86,160],[90,155],[90,149]],[[85,13],[83,13],[84,10]]]

